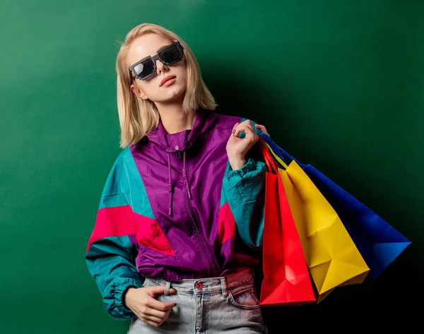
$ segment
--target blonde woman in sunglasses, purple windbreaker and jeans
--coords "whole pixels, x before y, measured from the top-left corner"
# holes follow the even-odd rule
[[[266,128],[213,111],[194,54],[159,25],[126,35],[116,70],[123,150],[86,249],[107,313],[131,334],[267,333],[252,269]]]

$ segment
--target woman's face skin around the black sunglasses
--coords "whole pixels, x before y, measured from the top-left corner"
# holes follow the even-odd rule
[[[126,58],[127,68],[146,56],[155,56],[158,49],[172,44],[165,37],[156,34],[146,34],[135,39],[129,48]],[[185,51],[185,50],[184,50]],[[159,59],[156,61],[156,75],[147,80],[134,79],[131,89],[137,97],[141,99],[150,99],[157,103],[166,103],[170,101],[182,101],[184,92],[187,89],[187,63],[185,54],[182,61],[174,65],[164,65]],[[163,78],[168,75],[175,76],[174,80],[160,85]],[[133,74],[134,76],[134,74]]]

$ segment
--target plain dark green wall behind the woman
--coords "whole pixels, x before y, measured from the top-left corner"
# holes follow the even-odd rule
[[[264,124],[412,241],[375,282],[263,309],[270,333],[412,326],[423,297],[423,1],[2,0],[1,333],[126,333],[84,255],[120,151],[117,40],[140,23],[189,44],[217,112]]]

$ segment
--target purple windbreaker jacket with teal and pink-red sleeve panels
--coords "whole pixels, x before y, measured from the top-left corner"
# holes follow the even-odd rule
[[[218,277],[261,262],[267,167],[259,143],[236,171],[225,149],[243,120],[199,108],[192,130],[168,134],[160,120],[117,157],[85,257],[112,318],[134,316],[122,295],[145,277]]]

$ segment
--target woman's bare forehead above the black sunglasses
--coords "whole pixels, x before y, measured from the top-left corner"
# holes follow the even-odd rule
[[[140,36],[134,39],[131,43],[128,51],[127,62],[129,63],[129,66],[131,66],[147,56],[154,56],[158,49],[162,49],[171,43],[172,42],[169,39],[156,34]]]

